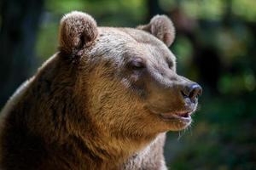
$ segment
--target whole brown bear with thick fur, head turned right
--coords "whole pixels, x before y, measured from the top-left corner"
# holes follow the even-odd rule
[[[81,12],[1,112],[3,170],[166,169],[167,131],[189,126],[201,87],[176,73],[172,21],[98,27]]]

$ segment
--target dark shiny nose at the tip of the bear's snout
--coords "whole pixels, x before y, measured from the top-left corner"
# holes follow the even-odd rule
[[[192,102],[195,103],[195,100],[202,94],[202,88],[199,84],[193,83],[187,86],[184,86],[181,93],[184,98],[189,98]]]

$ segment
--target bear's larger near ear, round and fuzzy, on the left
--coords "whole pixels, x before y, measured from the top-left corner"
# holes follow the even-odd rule
[[[96,20],[89,14],[73,11],[61,19],[60,48],[67,54],[76,53],[80,48],[90,46],[97,35]]]

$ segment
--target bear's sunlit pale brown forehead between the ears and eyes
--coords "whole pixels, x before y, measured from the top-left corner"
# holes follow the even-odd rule
[[[132,28],[98,27],[99,36],[90,50],[91,55],[104,59],[123,59],[124,56],[137,56],[154,63],[166,59],[175,62],[175,56],[166,44],[148,32]]]

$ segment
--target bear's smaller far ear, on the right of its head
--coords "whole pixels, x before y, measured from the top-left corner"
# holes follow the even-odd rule
[[[138,29],[148,31],[170,47],[175,38],[175,28],[166,15],[155,15],[148,25],[137,26]]]

